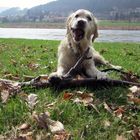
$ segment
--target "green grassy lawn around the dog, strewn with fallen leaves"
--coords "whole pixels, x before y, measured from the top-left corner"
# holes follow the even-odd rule
[[[59,41],[0,39],[0,78],[8,78],[10,74],[24,81],[25,75],[38,76],[49,74],[56,70],[57,46]],[[140,44],[136,43],[95,43],[95,48],[103,56],[125,70],[131,70],[140,75]],[[37,64],[32,68],[30,64]],[[115,75],[117,78],[117,75]],[[64,100],[64,93],[83,91],[93,93],[93,104],[99,110],[87,108],[83,104],[76,104]],[[47,89],[25,89],[25,95],[35,93],[39,102],[34,111],[42,113],[49,111],[53,120],[64,124],[65,130],[72,139],[79,140],[116,140],[117,135],[132,139],[135,127],[140,126],[140,104],[132,104],[127,100],[128,88],[110,87],[98,90],[88,88],[67,89],[54,91]],[[53,108],[47,105],[56,101]],[[109,113],[104,102],[114,108],[122,107],[122,117]],[[16,135],[18,126],[23,123],[31,125],[34,137],[46,135],[48,130],[38,128],[31,118],[31,111],[23,98],[23,93],[11,97],[7,103],[0,102],[0,135]]]

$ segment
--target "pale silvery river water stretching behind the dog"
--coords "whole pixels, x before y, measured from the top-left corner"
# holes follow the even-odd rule
[[[66,29],[0,28],[0,38],[62,40]],[[140,42],[140,30],[99,30],[97,42]]]

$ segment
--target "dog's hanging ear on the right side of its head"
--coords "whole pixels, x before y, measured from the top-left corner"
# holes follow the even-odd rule
[[[98,37],[98,25],[97,25],[97,19],[94,17],[94,28],[92,30],[92,42]]]

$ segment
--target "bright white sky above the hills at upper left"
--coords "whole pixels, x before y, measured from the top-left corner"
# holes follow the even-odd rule
[[[45,4],[54,0],[0,0],[0,7],[31,8],[36,5]]]

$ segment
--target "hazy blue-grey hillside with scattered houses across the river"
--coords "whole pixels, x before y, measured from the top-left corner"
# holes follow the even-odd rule
[[[8,18],[6,21],[14,18],[19,21],[62,22],[77,9],[90,10],[101,19],[140,20],[140,0],[57,0],[31,9],[11,8],[0,16]]]

